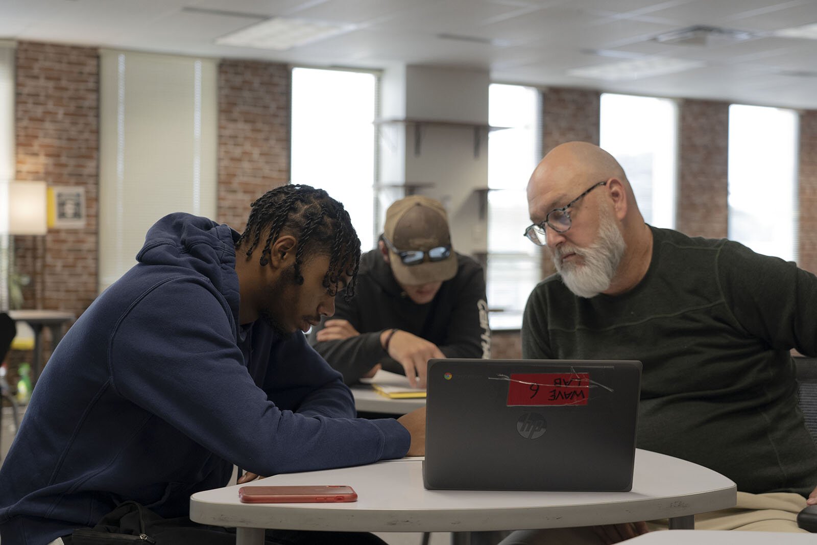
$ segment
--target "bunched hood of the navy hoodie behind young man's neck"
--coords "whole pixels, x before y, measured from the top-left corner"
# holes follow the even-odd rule
[[[150,227],[136,261],[194,270],[203,275],[230,304],[237,324],[240,297],[235,273],[235,242],[238,239],[239,233],[229,226],[177,212]]]

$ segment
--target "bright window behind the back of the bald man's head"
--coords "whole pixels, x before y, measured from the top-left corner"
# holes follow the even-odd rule
[[[675,227],[676,102],[601,95],[600,145],[624,168],[644,221]]]

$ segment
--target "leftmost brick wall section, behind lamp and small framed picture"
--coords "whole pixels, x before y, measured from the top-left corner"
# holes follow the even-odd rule
[[[86,203],[82,229],[16,237],[18,263],[33,276],[25,307],[80,315],[96,297],[97,51],[20,42],[16,55],[16,177],[84,188]]]

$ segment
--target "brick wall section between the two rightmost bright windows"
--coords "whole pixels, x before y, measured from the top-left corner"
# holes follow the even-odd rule
[[[725,237],[729,103],[685,100],[679,109],[676,229],[686,235]]]

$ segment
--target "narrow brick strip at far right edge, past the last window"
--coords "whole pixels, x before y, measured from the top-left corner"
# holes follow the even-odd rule
[[[800,114],[800,248],[797,264],[817,273],[817,111]]]

